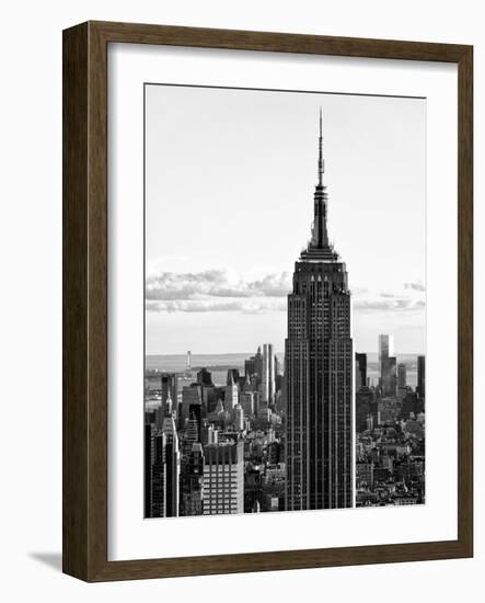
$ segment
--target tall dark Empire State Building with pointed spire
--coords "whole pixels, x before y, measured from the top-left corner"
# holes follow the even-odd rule
[[[288,295],[288,511],[353,507],[350,292],[345,263],[328,242],[323,173],[320,112],[312,236]]]

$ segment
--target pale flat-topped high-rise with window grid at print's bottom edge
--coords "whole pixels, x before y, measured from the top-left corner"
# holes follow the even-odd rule
[[[243,513],[243,442],[208,444],[204,458],[204,514]]]

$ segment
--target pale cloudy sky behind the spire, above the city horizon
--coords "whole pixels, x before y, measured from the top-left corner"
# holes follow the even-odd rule
[[[424,353],[426,100],[147,84],[147,354],[284,350],[320,107],[355,349]]]

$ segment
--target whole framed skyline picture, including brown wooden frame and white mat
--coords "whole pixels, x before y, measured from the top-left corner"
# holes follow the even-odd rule
[[[471,557],[472,47],[63,32],[63,571]]]

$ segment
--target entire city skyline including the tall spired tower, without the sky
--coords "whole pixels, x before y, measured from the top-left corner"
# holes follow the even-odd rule
[[[239,366],[193,367],[187,352],[185,369],[146,369],[146,517],[425,502],[425,356],[413,388],[392,335],[379,335],[374,380],[368,355],[353,351],[322,139],[320,116],[314,220],[288,293],[284,362],[262,342]]]

